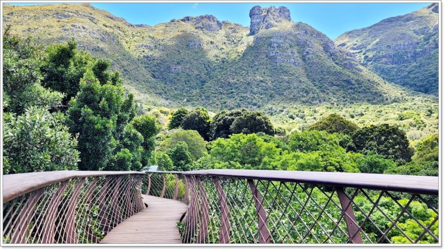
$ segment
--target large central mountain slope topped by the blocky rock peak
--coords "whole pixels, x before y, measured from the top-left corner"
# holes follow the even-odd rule
[[[143,103],[212,110],[265,105],[399,102],[387,83],[285,7],[250,13],[250,27],[214,16],[133,25],[89,4],[4,5],[11,32],[42,43],[74,38],[112,60]]]

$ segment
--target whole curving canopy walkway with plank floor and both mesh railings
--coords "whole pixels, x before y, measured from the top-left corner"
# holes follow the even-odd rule
[[[3,176],[3,243],[438,243],[438,177],[206,170]]]

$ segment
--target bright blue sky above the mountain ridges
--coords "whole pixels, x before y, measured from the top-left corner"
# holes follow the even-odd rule
[[[250,25],[248,13],[255,5],[285,6],[292,20],[311,25],[334,39],[346,31],[364,28],[382,19],[404,15],[430,3],[92,3],[133,24],[156,25],[185,16],[209,14],[220,21]],[[30,4],[14,4],[30,5]]]

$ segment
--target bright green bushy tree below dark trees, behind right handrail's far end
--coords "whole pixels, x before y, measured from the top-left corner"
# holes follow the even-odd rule
[[[234,134],[218,138],[210,145],[209,155],[199,160],[203,169],[278,170],[271,165],[281,152],[256,134]]]

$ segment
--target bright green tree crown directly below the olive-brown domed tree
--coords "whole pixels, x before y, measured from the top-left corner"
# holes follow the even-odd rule
[[[323,148],[337,148],[339,138],[336,134],[329,134],[326,131],[303,131],[295,132],[290,135],[288,145],[293,151],[311,152],[321,150]]]

